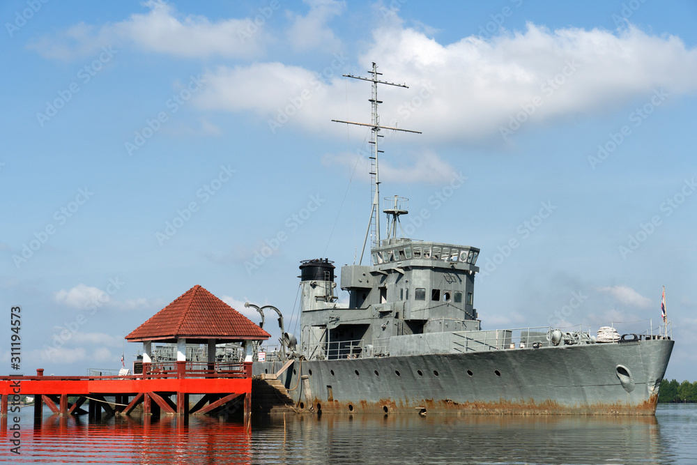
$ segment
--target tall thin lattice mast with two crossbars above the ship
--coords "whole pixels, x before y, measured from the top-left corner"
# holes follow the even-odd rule
[[[370,135],[370,144],[372,145],[372,156],[370,157],[371,160],[371,170],[370,170],[370,176],[372,177],[372,183],[371,183],[371,194],[373,196],[373,203],[370,209],[370,220],[368,222],[368,229],[365,231],[365,239],[363,240],[363,248],[360,251],[360,260],[358,261],[358,264],[360,265],[361,262],[363,261],[363,254],[365,252],[365,244],[368,241],[368,236],[372,235],[373,237],[373,246],[380,245],[380,170],[379,170],[379,154],[383,153],[384,151],[378,150],[378,139],[381,136],[378,132],[380,132],[381,129],[389,129],[389,130],[394,130],[394,131],[403,131],[403,132],[415,132],[416,134],[421,134],[420,131],[411,131],[411,130],[406,130],[406,129],[399,129],[399,128],[390,128],[388,126],[381,126],[380,125],[380,114],[378,114],[378,104],[382,103],[380,100],[378,100],[378,84],[387,84],[388,86],[397,86],[397,87],[404,87],[405,89],[408,89],[409,87],[406,86],[405,84],[395,84],[394,82],[385,82],[381,81],[378,79],[378,76],[381,76],[382,73],[378,73],[378,67],[376,66],[375,63],[373,63],[373,69],[370,71],[372,77],[360,77],[360,76],[353,76],[353,75],[344,75],[344,77],[352,77],[353,79],[362,79],[363,81],[369,81],[372,82],[372,95],[371,98],[368,100],[371,102],[372,106],[372,114],[371,114],[371,123],[370,124],[365,124],[365,123],[353,123],[351,121],[339,121],[337,119],[332,119],[335,123],[346,123],[346,124],[353,124],[353,125],[358,125],[358,126],[368,126],[371,128],[371,135]],[[371,234],[372,233],[372,234]]]

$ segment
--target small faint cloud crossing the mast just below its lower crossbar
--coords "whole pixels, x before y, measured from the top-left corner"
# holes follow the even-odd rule
[[[418,157],[413,157],[410,166],[395,167],[390,162],[380,162],[380,179],[387,182],[401,183],[447,183],[452,180],[455,169],[442,160],[434,151],[424,151]],[[324,155],[322,162],[325,166],[344,165],[358,174],[359,177],[370,178],[370,162],[364,155]]]

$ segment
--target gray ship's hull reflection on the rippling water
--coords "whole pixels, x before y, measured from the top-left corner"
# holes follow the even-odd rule
[[[270,448],[255,458],[307,463],[661,463],[655,417],[328,416],[257,425],[253,440]],[[293,444],[321,447],[296,452]]]

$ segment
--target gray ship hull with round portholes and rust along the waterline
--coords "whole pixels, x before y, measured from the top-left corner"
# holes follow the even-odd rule
[[[323,413],[653,415],[673,344],[296,360],[278,379],[298,408]],[[256,362],[253,372],[282,365]]]

